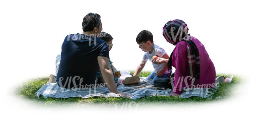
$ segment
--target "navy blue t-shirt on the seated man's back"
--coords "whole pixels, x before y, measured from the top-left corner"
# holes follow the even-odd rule
[[[56,82],[60,87],[67,89],[95,84],[98,72],[97,57],[109,58],[106,41],[79,33],[66,36],[61,49]]]

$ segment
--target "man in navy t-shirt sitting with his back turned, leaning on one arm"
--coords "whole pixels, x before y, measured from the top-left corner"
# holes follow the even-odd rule
[[[109,66],[109,50],[106,41],[97,36],[102,31],[100,15],[89,13],[83,18],[83,33],[65,37],[61,47],[61,59],[56,82],[60,87],[91,88],[97,80],[100,69],[108,89],[122,97],[130,97],[119,93],[115,86],[113,72]]]

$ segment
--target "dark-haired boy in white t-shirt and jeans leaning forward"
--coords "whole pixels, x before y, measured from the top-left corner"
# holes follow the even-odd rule
[[[137,44],[139,44],[139,48],[142,49],[145,54],[143,55],[141,63],[135,70],[134,76],[139,75],[139,73],[142,71],[143,67],[147,63],[147,60],[150,60],[152,62],[153,56],[169,59],[169,55],[166,54],[165,50],[154,44],[153,35],[150,31],[141,31],[136,38],[136,42]],[[146,78],[146,80],[152,79],[152,84],[154,83],[154,80],[157,80],[159,78],[169,78],[171,76],[171,71],[168,71],[166,63],[154,64],[152,62],[152,64],[155,70]]]

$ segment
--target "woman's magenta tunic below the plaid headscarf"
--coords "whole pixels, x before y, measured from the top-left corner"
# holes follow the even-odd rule
[[[196,79],[192,83],[191,78],[185,79],[186,76],[190,76],[189,64],[187,60],[187,42],[180,41],[176,44],[173,51],[172,65],[175,67],[174,75],[174,93],[181,94],[182,87],[214,87],[215,86],[215,67],[213,62],[206,52],[204,45],[197,40],[197,38],[191,36],[193,42],[196,44],[199,51],[200,60],[200,79]],[[183,76],[183,77],[182,77]],[[187,81],[187,84],[186,84]]]

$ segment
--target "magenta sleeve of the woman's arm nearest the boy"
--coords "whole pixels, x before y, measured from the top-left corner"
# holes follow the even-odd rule
[[[187,43],[181,41],[176,45],[174,50],[174,59],[172,62],[175,62],[176,70],[174,75],[174,92],[175,94],[180,95],[182,91],[182,85],[184,85],[184,78],[186,73],[187,61]]]

